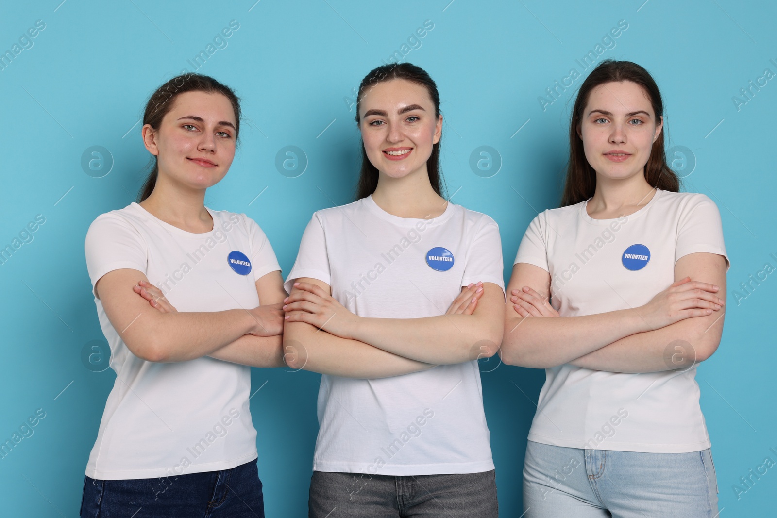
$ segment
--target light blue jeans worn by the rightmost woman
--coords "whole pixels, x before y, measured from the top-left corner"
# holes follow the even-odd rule
[[[708,450],[687,454],[581,450],[528,441],[525,518],[716,518]]]

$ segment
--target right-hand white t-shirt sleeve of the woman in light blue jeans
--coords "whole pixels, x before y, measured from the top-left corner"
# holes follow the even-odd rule
[[[723,243],[723,224],[720,210],[713,200],[697,194],[680,214],[674,261],[695,252],[709,252],[726,258],[726,271],[731,264]]]

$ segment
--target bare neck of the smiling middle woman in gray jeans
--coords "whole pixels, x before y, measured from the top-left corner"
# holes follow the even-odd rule
[[[379,172],[372,200],[389,214],[420,219],[440,216],[448,207],[445,199],[434,192],[425,166],[402,178]]]

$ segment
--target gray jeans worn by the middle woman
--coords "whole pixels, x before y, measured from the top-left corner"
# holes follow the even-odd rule
[[[457,475],[362,475],[313,471],[310,518],[497,518],[494,471]]]

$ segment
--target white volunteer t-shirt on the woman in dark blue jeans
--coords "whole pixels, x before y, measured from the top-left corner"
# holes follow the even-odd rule
[[[256,308],[254,283],[280,269],[267,236],[246,214],[207,211],[214,230],[197,234],[157,219],[138,203],[100,214],[86,235],[92,289],[111,270],[131,268],[145,273],[178,311]],[[249,367],[207,356],[141,360],[113,329],[102,302],[95,298],[95,304],[117,377],[86,475],[156,478],[229,469],[256,458]]]

